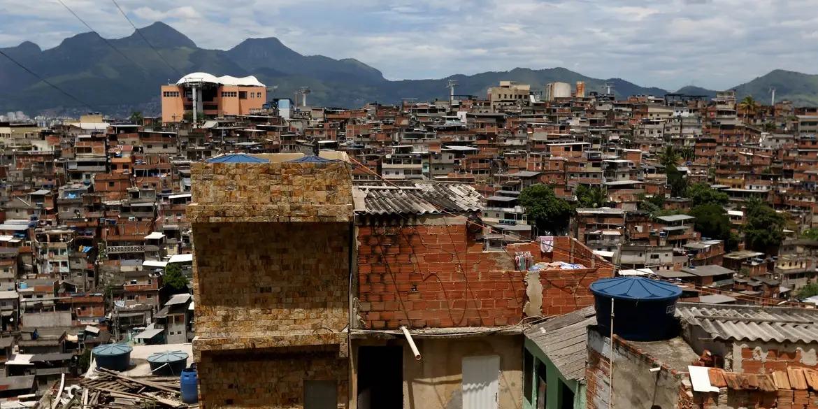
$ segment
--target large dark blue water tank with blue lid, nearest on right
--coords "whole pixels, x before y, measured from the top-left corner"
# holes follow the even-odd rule
[[[671,339],[678,332],[674,317],[681,289],[665,281],[640,276],[604,278],[591,284],[596,322],[610,333],[613,299],[613,333],[631,341]]]

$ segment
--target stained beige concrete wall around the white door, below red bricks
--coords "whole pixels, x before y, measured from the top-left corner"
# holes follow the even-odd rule
[[[462,366],[464,357],[498,355],[500,374],[497,394],[498,407],[519,409],[523,399],[523,335],[487,335],[470,338],[420,339],[416,338],[422,360],[416,361],[411,349],[402,340],[390,345],[403,346],[403,408],[404,409],[461,409]],[[366,340],[353,344],[353,360],[357,347],[385,344],[384,341]],[[357,391],[353,371],[353,391]],[[353,405],[357,406],[356,392]]]

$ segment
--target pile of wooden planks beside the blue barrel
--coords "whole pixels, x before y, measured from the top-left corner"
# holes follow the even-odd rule
[[[59,391],[52,409],[74,408],[187,408],[178,377],[131,378],[97,368],[99,376],[83,380],[79,389]]]

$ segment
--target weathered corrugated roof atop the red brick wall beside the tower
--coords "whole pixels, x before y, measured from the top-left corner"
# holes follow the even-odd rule
[[[483,196],[461,183],[415,182],[408,186],[357,186],[355,212],[362,214],[474,213]]]

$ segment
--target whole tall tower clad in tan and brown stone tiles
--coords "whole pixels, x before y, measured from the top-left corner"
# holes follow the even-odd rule
[[[191,174],[203,407],[347,407],[348,164],[194,164]]]

